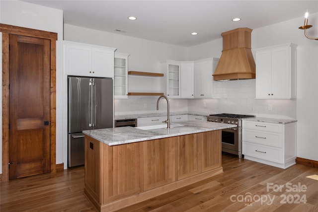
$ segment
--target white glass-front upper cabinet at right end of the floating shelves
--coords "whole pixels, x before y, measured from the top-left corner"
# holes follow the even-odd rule
[[[167,60],[161,65],[163,71],[167,73],[167,88],[165,94],[169,98],[180,98],[181,62]]]

